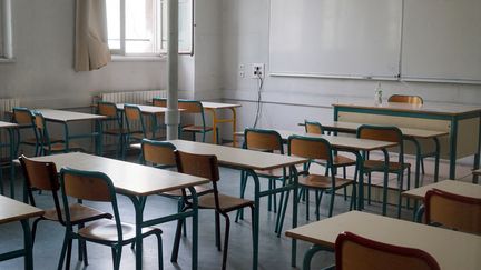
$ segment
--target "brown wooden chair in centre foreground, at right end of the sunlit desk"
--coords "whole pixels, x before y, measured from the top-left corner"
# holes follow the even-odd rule
[[[177,170],[181,173],[187,173],[196,177],[208,178],[212,181],[213,190],[210,193],[204,194],[198,198],[199,209],[213,209],[215,211],[215,224],[216,224],[216,246],[220,250],[220,224],[219,214],[225,218],[225,238],[224,238],[224,253],[223,253],[223,267],[226,269],[227,262],[227,248],[228,237],[230,230],[230,219],[228,212],[242,209],[245,207],[251,208],[252,217],[254,218],[254,202],[242,198],[235,198],[226,194],[222,194],[217,190],[217,182],[219,181],[219,171],[216,156],[208,154],[194,154],[181,151],[176,151]],[[189,208],[192,203],[187,200],[184,191],[185,206]],[[180,227],[184,221],[179,220],[177,223],[176,238],[173,249],[171,261],[177,261],[178,248],[180,241]]]

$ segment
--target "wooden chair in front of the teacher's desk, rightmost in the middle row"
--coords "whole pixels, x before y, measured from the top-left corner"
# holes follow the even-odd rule
[[[371,173],[372,172],[384,172],[383,180],[383,209],[382,214],[386,214],[387,210],[387,182],[389,182],[389,173],[397,174],[397,218],[401,218],[401,193],[403,190],[403,179],[404,179],[404,170],[408,170],[408,189],[410,188],[411,182],[411,164],[404,162],[404,144],[403,144],[403,136],[399,128],[396,127],[383,127],[383,126],[370,126],[363,124],[357,128],[357,138],[361,139],[371,139],[379,141],[389,141],[397,143],[399,149],[399,159],[397,161],[389,161],[387,168],[385,167],[384,160],[370,160],[369,154],[364,153],[364,173],[369,174],[367,178],[367,202],[371,203]],[[386,149],[382,150],[384,157],[389,159],[389,152]]]

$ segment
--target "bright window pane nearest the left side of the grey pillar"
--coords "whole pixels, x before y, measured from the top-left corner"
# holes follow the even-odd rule
[[[126,0],[126,53],[157,53],[156,0]]]

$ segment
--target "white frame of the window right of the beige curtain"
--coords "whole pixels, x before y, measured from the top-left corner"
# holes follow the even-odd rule
[[[0,0],[1,1],[1,0]],[[167,53],[166,49],[161,49],[159,53],[126,53],[126,40],[125,40],[125,32],[126,32],[126,4],[125,4],[125,0],[119,0],[120,1],[120,49],[110,49],[110,53],[114,57],[131,57],[131,58],[136,58],[136,59],[143,59],[143,58],[149,58],[149,57],[165,57]],[[167,1],[167,0],[161,0],[161,1]],[[194,56],[194,31],[195,31],[195,18],[194,18],[194,0],[192,1],[192,37],[190,37],[190,50],[189,51],[179,51],[179,54],[188,54],[188,56]],[[160,9],[160,16],[161,16],[161,4],[159,7]],[[161,18],[160,18],[161,20]],[[160,26],[159,29],[159,33],[157,36],[157,38],[159,39],[159,42],[163,43],[165,40],[163,39],[163,37],[165,37],[165,33],[163,32],[164,28]]]

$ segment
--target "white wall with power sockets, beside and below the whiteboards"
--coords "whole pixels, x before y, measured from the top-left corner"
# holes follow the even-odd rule
[[[238,68],[244,64],[248,73],[252,63],[266,63],[268,73],[269,0],[224,0],[222,13],[224,99],[240,101],[239,126],[252,126],[257,82],[248,74],[240,78]],[[261,127],[293,129],[304,118],[332,119],[333,102],[372,100],[376,84],[369,80],[267,76],[263,92],[267,103],[263,107]],[[382,87],[384,97],[406,93],[419,94],[425,101],[481,104],[481,86],[382,82]]]

